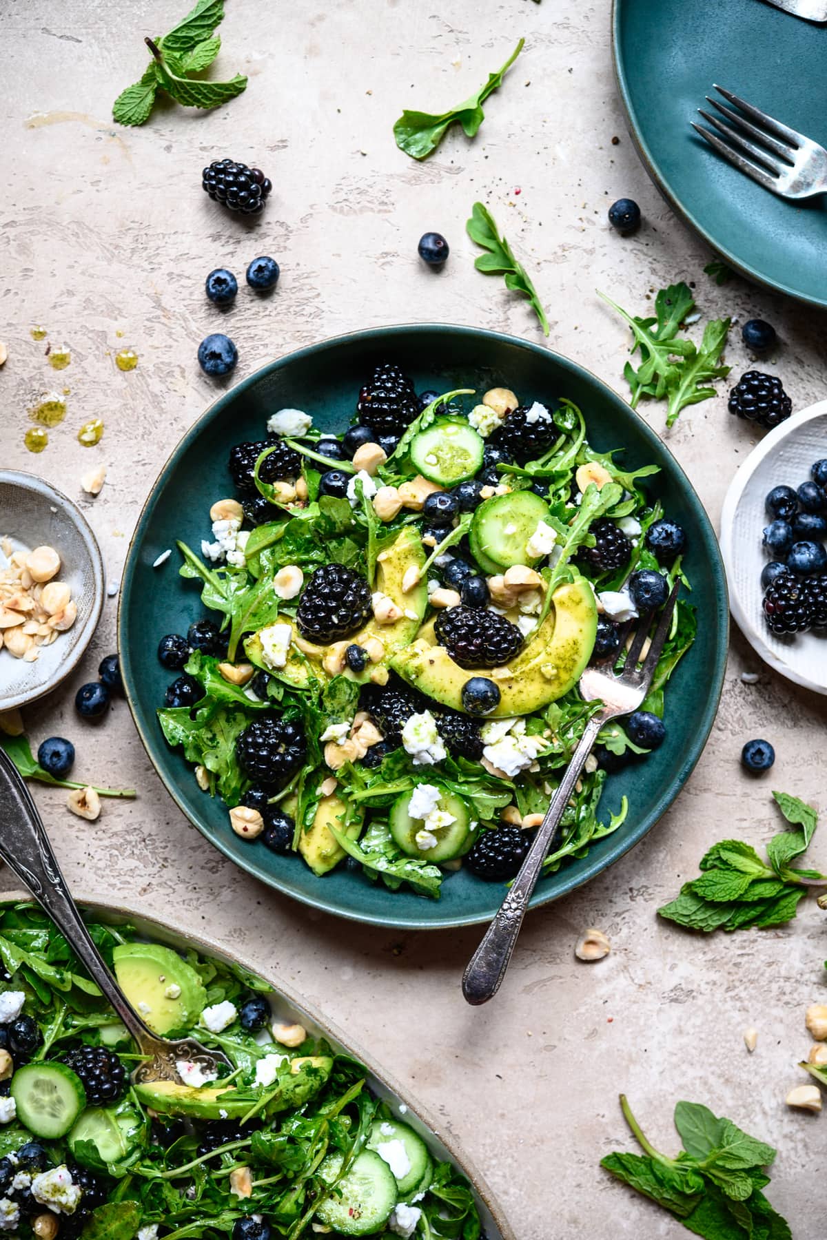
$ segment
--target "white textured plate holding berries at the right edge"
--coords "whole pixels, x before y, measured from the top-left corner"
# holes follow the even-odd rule
[[[802,409],[771,430],[753,449],[733,479],[720,513],[720,551],[727,568],[729,605],[753,650],[781,676],[816,693],[827,693],[827,635],[800,632],[776,637],[761,611],[761,569],[770,556],[761,533],[770,522],[764,501],[774,486],[797,487],[813,461],[827,458],[827,401]]]

